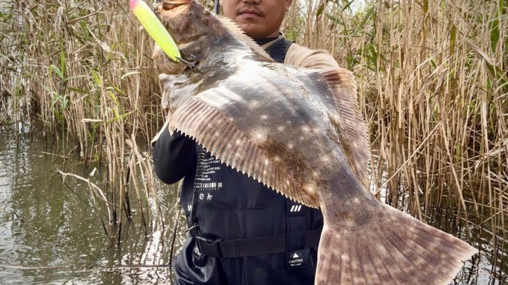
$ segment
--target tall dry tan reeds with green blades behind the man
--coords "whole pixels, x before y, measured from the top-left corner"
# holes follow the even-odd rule
[[[158,211],[129,204],[157,196],[149,142],[166,113],[152,42],[125,1],[0,3],[0,124],[33,115],[85,163],[104,160],[119,241],[131,206]],[[452,211],[450,231],[488,234],[495,276],[508,252],[506,15],[502,0],[306,0],[283,29],[355,72],[374,195],[431,224]]]

